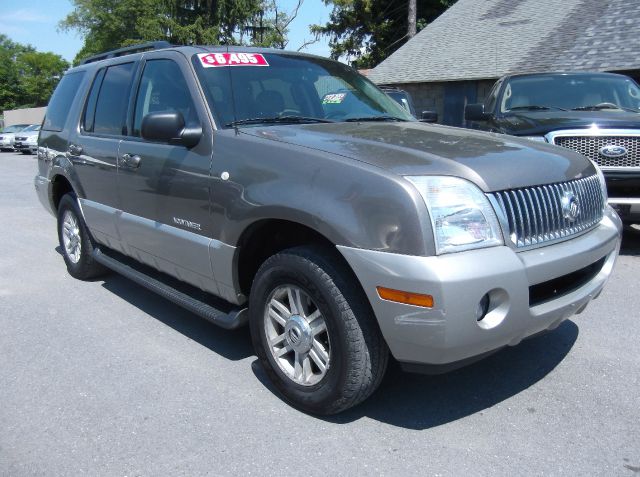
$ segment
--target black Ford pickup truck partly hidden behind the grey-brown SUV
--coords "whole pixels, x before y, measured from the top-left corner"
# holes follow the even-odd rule
[[[640,87],[613,73],[506,76],[484,104],[466,107],[473,127],[566,147],[604,172],[609,203],[640,222]]]

